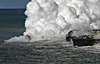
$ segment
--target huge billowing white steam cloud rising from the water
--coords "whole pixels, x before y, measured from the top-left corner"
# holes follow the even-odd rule
[[[6,42],[65,37],[71,29],[100,28],[100,0],[31,0],[23,36]]]

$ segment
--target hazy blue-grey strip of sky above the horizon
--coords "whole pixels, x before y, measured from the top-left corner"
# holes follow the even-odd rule
[[[0,0],[0,8],[25,8],[30,0]]]

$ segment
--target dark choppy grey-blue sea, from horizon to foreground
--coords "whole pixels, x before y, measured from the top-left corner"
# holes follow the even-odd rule
[[[100,47],[74,47],[65,39],[4,43],[25,31],[25,10],[0,10],[0,64],[100,64]]]

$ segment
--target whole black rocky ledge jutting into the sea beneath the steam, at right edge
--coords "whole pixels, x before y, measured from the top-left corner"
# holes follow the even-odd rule
[[[73,41],[73,46],[93,46],[100,43],[100,29],[86,30],[84,35],[73,35],[73,32],[78,33],[79,30],[71,30],[66,34],[66,41]]]

